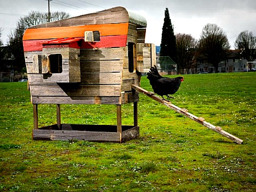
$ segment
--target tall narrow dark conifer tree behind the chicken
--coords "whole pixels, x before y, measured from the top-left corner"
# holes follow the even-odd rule
[[[161,65],[161,56],[169,56],[175,62],[177,59],[176,37],[174,35],[172,22],[170,21],[168,8],[165,9],[164,15],[162,38],[160,44],[160,66],[163,69],[165,69],[165,66]],[[168,68],[166,69],[168,70]]]

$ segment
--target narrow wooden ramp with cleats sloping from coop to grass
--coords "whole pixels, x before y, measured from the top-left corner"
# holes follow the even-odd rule
[[[198,123],[208,127],[209,129],[211,129],[211,130],[213,130],[213,131],[215,131],[215,132],[217,132],[217,133],[219,133],[219,134],[221,134],[221,135],[231,139],[232,141],[234,141],[234,142],[236,142],[238,144],[242,144],[243,140],[241,140],[241,139],[239,139],[239,138],[237,138],[237,137],[235,137],[235,136],[225,132],[224,130],[222,130],[222,128],[220,126],[215,126],[215,125],[212,125],[212,124],[206,122],[203,117],[197,117],[197,116],[195,116],[195,115],[193,115],[191,113],[188,113],[188,110],[181,109],[178,106],[176,106],[176,105],[174,105],[174,104],[172,104],[172,103],[170,103],[168,101],[164,101],[160,97],[156,96],[155,93],[146,91],[143,88],[141,88],[139,86],[136,86],[135,84],[132,84],[131,87],[135,91],[141,92],[141,93],[145,94],[146,96],[151,97],[152,99],[154,99],[154,100],[164,104],[168,108],[173,109],[173,110],[175,110],[176,112],[178,112],[178,113],[180,113],[182,115],[185,115],[186,117],[188,117],[188,118],[190,118],[190,119],[192,119],[192,120],[194,120],[194,121],[196,121],[196,122],[198,122]]]

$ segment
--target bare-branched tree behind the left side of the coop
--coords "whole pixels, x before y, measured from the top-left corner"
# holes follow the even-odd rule
[[[64,12],[54,12],[51,14],[51,21],[59,20],[63,18],[68,18],[69,14]],[[21,17],[17,22],[16,29],[11,32],[8,36],[9,41],[8,44],[12,53],[15,57],[15,71],[22,71],[25,68],[25,58],[24,58],[24,50],[23,50],[23,34],[27,28],[33,25],[39,25],[47,23],[48,21],[48,13],[40,13],[36,11],[32,11],[29,15]]]

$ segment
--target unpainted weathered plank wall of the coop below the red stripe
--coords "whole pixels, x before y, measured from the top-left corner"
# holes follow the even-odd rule
[[[27,68],[31,69],[32,56],[26,55]],[[132,97],[131,92],[131,84],[139,83],[138,75],[128,71],[127,59],[126,48],[80,50],[80,83],[55,83],[44,79],[44,74],[28,74],[32,103],[123,104],[138,101],[138,96]]]

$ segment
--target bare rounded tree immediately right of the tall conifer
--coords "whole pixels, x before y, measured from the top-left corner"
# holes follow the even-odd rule
[[[196,61],[197,40],[191,35],[178,33],[176,35],[177,63],[180,69],[188,72]]]

